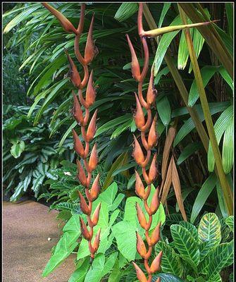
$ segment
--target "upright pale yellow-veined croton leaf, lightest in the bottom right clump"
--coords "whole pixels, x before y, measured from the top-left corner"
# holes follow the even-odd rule
[[[198,227],[199,242],[209,242],[209,248],[221,243],[221,223],[213,213],[202,216]]]

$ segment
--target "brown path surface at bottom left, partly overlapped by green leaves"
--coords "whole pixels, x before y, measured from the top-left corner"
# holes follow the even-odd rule
[[[27,200],[3,204],[3,281],[4,282],[67,282],[75,270],[70,255],[48,277],[42,271],[61,235],[56,211],[49,213],[43,204]],[[48,240],[51,238],[51,240]]]

